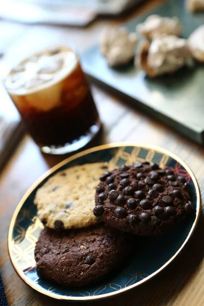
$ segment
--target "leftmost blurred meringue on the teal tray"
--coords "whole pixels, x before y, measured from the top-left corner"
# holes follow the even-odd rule
[[[125,28],[107,28],[99,40],[100,53],[107,59],[108,65],[118,66],[128,63],[135,54],[137,35]]]

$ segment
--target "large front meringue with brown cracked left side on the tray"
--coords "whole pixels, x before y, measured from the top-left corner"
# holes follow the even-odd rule
[[[172,73],[183,67],[191,53],[186,39],[173,35],[155,38],[151,43],[144,42],[136,64],[146,71],[149,77]]]

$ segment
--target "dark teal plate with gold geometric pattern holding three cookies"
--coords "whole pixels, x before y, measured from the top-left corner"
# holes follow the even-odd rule
[[[46,281],[35,268],[34,248],[43,228],[33,203],[36,191],[50,176],[74,165],[108,162],[119,167],[147,160],[169,166],[183,175],[189,184],[195,213],[188,223],[171,234],[156,237],[138,237],[137,252],[121,271],[108,275],[103,282],[81,288],[69,288]],[[110,297],[135,288],[161,272],[182,251],[192,236],[200,213],[200,193],[195,176],[179,157],[155,146],[135,143],[115,143],[98,146],[76,154],[48,170],[22,197],[9,227],[8,247],[11,263],[19,277],[30,287],[49,297],[63,300],[93,300]],[[140,250],[138,252],[138,249]]]

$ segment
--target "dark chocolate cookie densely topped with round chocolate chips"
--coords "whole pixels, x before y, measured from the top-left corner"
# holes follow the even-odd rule
[[[95,216],[118,230],[141,236],[169,231],[193,212],[185,177],[148,162],[105,172],[96,189],[95,205]]]

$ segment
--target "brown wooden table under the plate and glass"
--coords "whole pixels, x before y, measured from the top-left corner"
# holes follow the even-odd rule
[[[131,17],[162,1],[149,1]],[[130,16],[129,16],[130,18]],[[126,21],[120,18],[113,24]],[[13,60],[18,52],[32,49],[32,45],[41,43],[49,35],[56,35],[63,41],[71,40],[82,52],[98,40],[105,19],[94,22],[86,29],[47,27],[44,25],[23,25],[0,22],[0,50],[7,52],[6,59]],[[119,100],[99,88],[92,86],[94,98],[104,122],[104,133],[99,143],[114,141],[136,141],[154,144],[171,150],[180,156],[195,173],[202,197],[204,190],[204,149],[185,137],[170,130],[164,124],[146,116],[139,110],[128,106],[125,100]],[[113,116],[114,114],[114,116]],[[95,143],[92,143],[93,146]],[[37,293],[25,285],[14,272],[7,250],[7,234],[12,214],[25,191],[48,168],[65,157],[42,155],[29,136],[19,143],[12,158],[0,176],[0,270],[5,284],[9,305],[41,306],[69,305]],[[204,305],[204,222],[200,216],[197,230],[188,246],[169,267],[136,290],[118,297],[89,302],[89,305],[128,305],[128,306],[202,306]],[[80,303],[75,303],[74,305]]]

